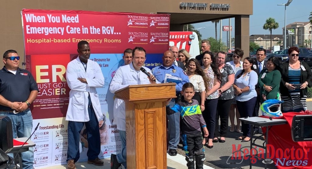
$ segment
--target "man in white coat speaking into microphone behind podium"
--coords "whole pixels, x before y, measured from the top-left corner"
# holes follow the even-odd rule
[[[153,84],[160,83],[156,81],[152,71],[144,67],[144,62],[146,60],[146,51],[142,47],[135,47],[132,51],[133,60],[132,63],[121,66],[117,69],[111,83],[110,83],[110,92],[115,93],[116,91],[127,87],[129,85],[139,85],[139,84]],[[148,77],[142,71],[141,68],[144,68],[150,76]],[[121,166],[124,166],[127,169],[127,153],[126,153],[126,106],[123,100],[115,99],[114,101],[114,124],[117,124],[117,129],[119,130],[121,138],[121,153],[112,154],[110,156],[110,168],[117,169]]]

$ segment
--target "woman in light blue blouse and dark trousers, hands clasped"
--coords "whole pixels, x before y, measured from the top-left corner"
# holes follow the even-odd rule
[[[255,86],[258,83],[258,75],[254,71],[252,63],[252,58],[245,58],[243,61],[243,70],[240,70],[235,74],[233,87],[236,94],[236,105],[241,118],[252,117],[257,100]],[[251,125],[243,122],[241,124],[241,130],[243,135],[236,140],[241,140],[241,142],[250,141]]]

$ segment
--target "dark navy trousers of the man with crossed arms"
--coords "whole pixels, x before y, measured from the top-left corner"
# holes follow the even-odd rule
[[[89,105],[91,104],[90,96]],[[68,121],[68,149],[67,149],[67,160],[73,159],[74,162],[77,162],[80,158],[79,153],[79,144],[80,144],[80,132],[85,124],[88,135],[88,160],[95,160],[98,158],[101,151],[101,140],[100,140],[100,130],[99,130],[99,121],[96,118],[95,112],[92,106],[88,106],[89,121],[87,122],[77,122],[77,121]]]

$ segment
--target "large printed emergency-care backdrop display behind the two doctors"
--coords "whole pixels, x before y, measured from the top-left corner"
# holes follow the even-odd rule
[[[100,158],[121,151],[119,131],[113,123],[114,94],[109,85],[117,68],[123,65],[123,52],[141,46],[146,49],[144,66],[153,68],[162,63],[161,56],[168,50],[168,14],[142,14],[122,12],[22,11],[26,68],[34,76],[39,93],[32,104],[34,124],[40,122],[32,137],[35,167],[48,167],[66,163],[68,148],[67,121],[69,100],[66,81],[67,64],[75,59],[77,43],[90,44],[90,59],[97,62],[105,78],[98,88],[102,113],[100,122]],[[34,125],[34,126],[36,126]],[[83,138],[83,134],[81,134]],[[80,161],[86,161],[88,148],[80,144]]]

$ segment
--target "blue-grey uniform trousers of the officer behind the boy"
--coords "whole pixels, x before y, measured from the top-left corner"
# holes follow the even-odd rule
[[[169,103],[170,107],[175,104],[175,99],[172,99]],[[167,115],[168,118],[168,148],[177,149],[180,141],[180,113],[173,113]]]

